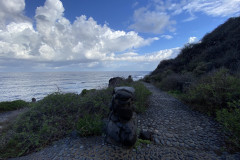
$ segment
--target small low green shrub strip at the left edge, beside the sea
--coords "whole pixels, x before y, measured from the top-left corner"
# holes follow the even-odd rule
[[[0,113],[28,107],[28,105],[29,103],[23,100],[16,100],[12,102],[0,102]]]

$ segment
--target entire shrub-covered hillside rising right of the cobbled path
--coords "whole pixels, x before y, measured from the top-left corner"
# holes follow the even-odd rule
[[[240,17],[161,61],[144,80],[216,118],[231,135],[230,150],[240,150]]]

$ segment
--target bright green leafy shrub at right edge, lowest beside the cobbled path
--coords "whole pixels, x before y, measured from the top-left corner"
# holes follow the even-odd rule
[[[229,103],[229,108],[217,111],[217,120],[230,131],[230,141],[240,149],[240,100]]]

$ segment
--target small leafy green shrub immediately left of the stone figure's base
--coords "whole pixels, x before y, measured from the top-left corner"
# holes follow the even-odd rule
[[[101,115],[84,115],[82,118],[79,118],[76,127],[81,136],[99,135],[103,127]]]

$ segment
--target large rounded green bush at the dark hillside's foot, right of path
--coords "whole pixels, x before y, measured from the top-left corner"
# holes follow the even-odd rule
[[[215,115],[217,110],[228,107],[227,102],[239,98],[240,80],[230,75],[226,69],[220,69],[193,85],[183,100],[200,111]]]

